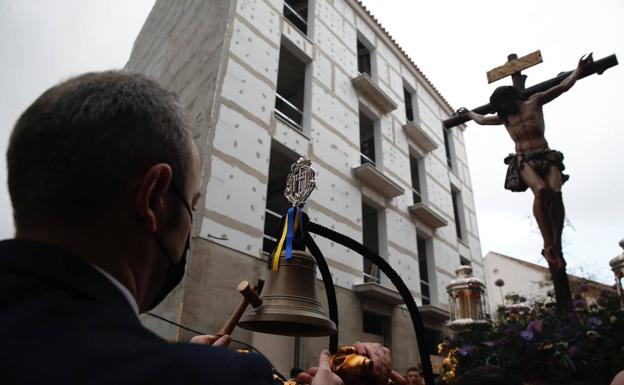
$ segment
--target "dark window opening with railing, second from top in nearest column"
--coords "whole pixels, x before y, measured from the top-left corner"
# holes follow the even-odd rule
[[[280,49],[275,114],[303,130],[303,97],[306,64],[284,46]]]

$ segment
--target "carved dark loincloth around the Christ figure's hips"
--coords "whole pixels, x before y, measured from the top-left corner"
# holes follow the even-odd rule
[[[563,154],[557,150],[544,148],[541,150],[533,150],[520,152],[517,154],[509,154],[505,158],[505,164],[508,164],[507,175],[505,177],[505,188],[514,192],[526,191],[529,186],[522,180],[520,169],[523,164],[531,166],[535,172],[545,178],[550,170],[550,166],[554,165],[561,172],[561,183],[565,183],[570,176],[564,174]]]

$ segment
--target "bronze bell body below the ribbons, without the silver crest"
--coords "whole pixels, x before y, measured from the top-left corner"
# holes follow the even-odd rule
[[[316,296],[316,260],[293,250],[292,259],[282,251],[277,272],[269,277],[260,298],[262,305],[245,313],[238,326],[260,333],[320,337],[336,333]]]

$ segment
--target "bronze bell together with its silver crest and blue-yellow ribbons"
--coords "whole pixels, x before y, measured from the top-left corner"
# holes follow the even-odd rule
[[[294,211],[294,216],[301,218],[299,222],[303,222],[304,217],[307,218],[300,211],[316,187],[316,172],[311,164],[310,159],[299,158],[291,166],[286,180],[284,196],[295,208],[291,208],[289,212]],[[285,222],[288,222],[287,217]],[[283,235],[288,229],[289,233],[292,232],[291,239],[297,238],[294,235],[297,231],[301,234],[303,223],[298,229],[296,223],[294,229],[285,224]],[[245,313],[238,326],[260,333],[287,336],[315,337],[335,334],[336,325],[325,315],[316,295],[316,260],[304,250],[302,242],[293,244],[288,253],[281,251],[282,241],[269,257],[274,268],[268,269],[267,283],[260,297],[262,305]]]

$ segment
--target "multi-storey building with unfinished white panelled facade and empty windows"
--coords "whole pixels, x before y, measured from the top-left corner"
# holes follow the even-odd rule
[[[237,283],[266,272],[300,156],[317,171],[310,219],[392,265],[422,305],[430,344],[448,319],[455,269],[469,263],[483,278],[463,128],[443,129],[452,108],[358,1],[158,0],[126,67],[178,94],[201,156],[187,274],[161,316],[220,329],[240,302]],[[339,343],[379,341],[398,370],[416,364],[411,321],[389,280],[353,251],[316,242],[336,285]],[[315,365],[328,341],[233,337],[286,372]]]

